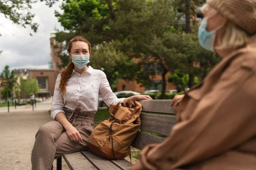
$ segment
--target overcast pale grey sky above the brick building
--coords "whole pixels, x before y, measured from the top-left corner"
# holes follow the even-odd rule
[[[62,2],[62,1],[61,1]],[[0,72],[5,65],[14,68],[48,68],[50,61],[50,34],[54,28],[62,30],[54,16],[54,11],[61,11],[57,2],[51,8],[38,0],[32,6],[34,21],[39,23],[38,31],[13,24],[0,14]],[[30,36],[29,33],[33,36]]]

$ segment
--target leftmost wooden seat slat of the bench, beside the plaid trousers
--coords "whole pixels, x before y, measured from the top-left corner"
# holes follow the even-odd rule
[[[70,153],[63,156],[70,170],[96,170],[80,152]]]

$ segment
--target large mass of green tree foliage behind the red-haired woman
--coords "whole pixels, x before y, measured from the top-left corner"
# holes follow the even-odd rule
[[[196,0],[195,4],[203,1]],[[190,7],[195,11],[193,4]],[[119,78],[149,85],[158,71],[163,99],[169,71],[179,69],[201,80],[218,62],[218,56],[199,45],[197,28],[188,34],[179,25],[185,0],[72,0],[63,1],[61,9],[55,12],[65,29],[56,34],[56,40],[63,42],[61,51],[67,50],[74,36],[86,37],[93,45],[91,65],[104,68],[112,88]],[[64,53],[60,57],[65,67],[69,58]],[[195,62],[202,65],[195,67]],[[145,67],[153,63],[158,64],[157,71]]]

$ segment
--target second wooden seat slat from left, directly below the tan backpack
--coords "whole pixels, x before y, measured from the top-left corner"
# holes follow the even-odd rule
[[[96,156],[91,151],[84,151],[82,154],[92,163],[98,170],[121,170],[116,164],[113,164],[108,159],[103,159]],[[85,168],[86,169],[86,168]]]

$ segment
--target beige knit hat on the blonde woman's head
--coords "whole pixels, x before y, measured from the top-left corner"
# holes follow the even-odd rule
[[[207,0],[207,4],[247,33],[256,33],[256,0]]]

